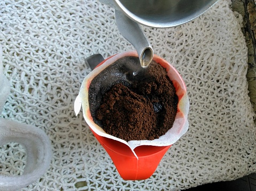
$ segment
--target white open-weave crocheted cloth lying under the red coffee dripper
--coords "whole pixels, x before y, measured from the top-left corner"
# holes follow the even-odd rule
[[[256,172],[254,113],[248,96],[242,18],[220,0],[196,20],[143,27],[154,52],[181,73],[190,99],[189,130],[153,176],[125,181],[74,100],[90,69],[84,59],[134,49],[96,0],[0,1],[0,40],[11,95],[2,117],[42,129],[52,144],[48,171],[22,190],[181,190]],[[1,175],[21,175],[24,148],[0,148]],[[0,180],[1,181],[1,180]]]

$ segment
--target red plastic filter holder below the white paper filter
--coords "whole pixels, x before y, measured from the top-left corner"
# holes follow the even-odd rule
[[[110,155],[124,180],[144,180],[151,177],[162,157],[171,146],[138,146],[134,150],[138,156],[137,159],[126,144],[99,136],[93,130],[91,131]]]

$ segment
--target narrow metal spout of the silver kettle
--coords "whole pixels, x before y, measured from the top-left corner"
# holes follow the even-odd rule
[[[119,10],[115,10],[115,21],[121,35],[135,47],[142,68],[147,68],[153,59],[153,48],[141,27]]]

